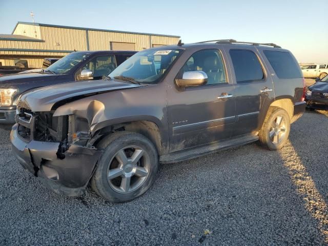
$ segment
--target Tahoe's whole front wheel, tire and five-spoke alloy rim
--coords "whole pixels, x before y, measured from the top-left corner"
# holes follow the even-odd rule
[[[152,185],[158,155],[152,142],[133,132],[117,132],[101,141],[104,149],[91,179],[92,189],[108,201],[124,202],[144,194]]]

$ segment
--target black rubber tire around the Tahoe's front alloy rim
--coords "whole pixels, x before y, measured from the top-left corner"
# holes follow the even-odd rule
[[[107,179],[107,176],[109,175],[109,171],[112,170],[109,168],[113,161],[116,160],[117,153],[129,146],[140,147],[146,155],[145,159],[147,159],[150,164],[148,165],[147,176],[142,182],[140,181],[140,186],[137,186],[137,189],[131,192],[125,191],[128,193],[120,193],[117,191],[120,187],[115,187],[111,180]],[[112,202],[125,202],[141,196],[151,187],[158,169],[158,154],[153,143],[148,138],[133,132],[116,132],[101,140],[97,147],[103,149],[104,153],[100,157],[97,168],[91,178],[91,188],[99,196]],[[132,158],[132,156],[130,158]],[[144,158],[144,156],[141,158]]]

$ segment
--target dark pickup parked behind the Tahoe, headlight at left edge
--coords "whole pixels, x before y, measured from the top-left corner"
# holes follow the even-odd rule
[[[61,58],[45,70],[1,76],[0,124],[15,122],[16,100],[23,92],[71,81],[101,79],[135,53],[136,51],[78,51]]]

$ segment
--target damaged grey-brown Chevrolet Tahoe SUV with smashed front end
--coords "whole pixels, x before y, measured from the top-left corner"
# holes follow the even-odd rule
[[[159,162],[257,140],[282,148],[304,94],[296,59],[276,45],[179,43],[140,51],[107,79],[23,94],[12,150],[55,192],[81,195],[90,181],[106,200],[128,201],[150,188]]]

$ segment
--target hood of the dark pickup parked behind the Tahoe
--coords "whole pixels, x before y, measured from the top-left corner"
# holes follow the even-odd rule
[[[36,84],[42,81],[50,81],[56,79],[57,74],[47,73],[16,73],[0,76],[0,88],[14,88],[25,84]]]

